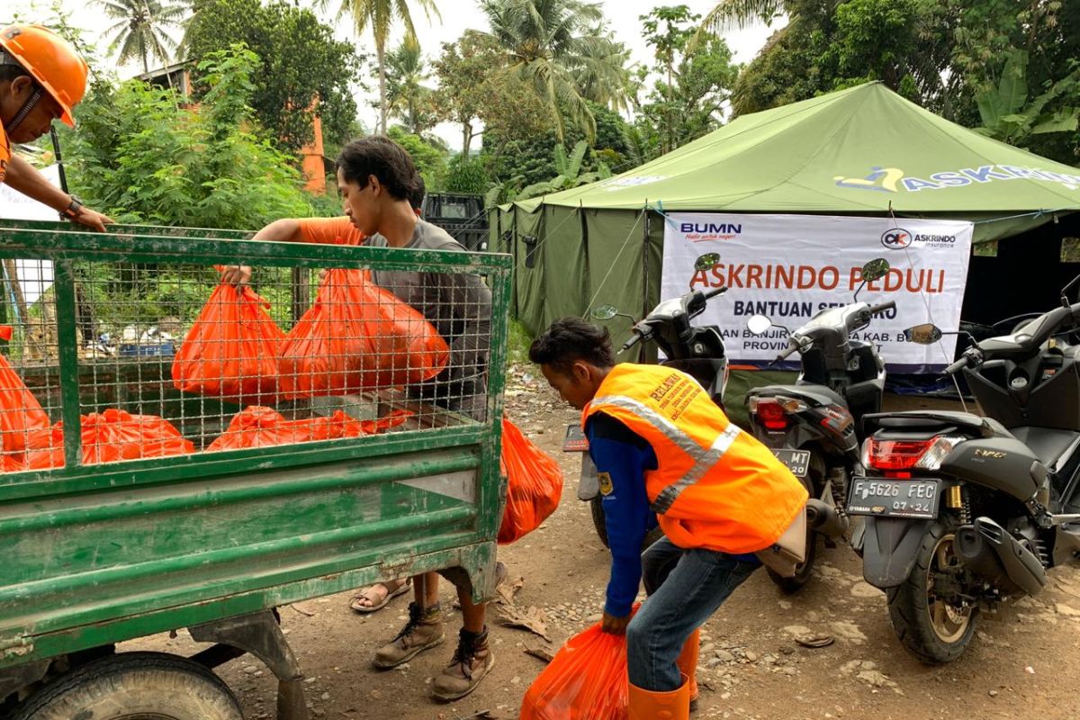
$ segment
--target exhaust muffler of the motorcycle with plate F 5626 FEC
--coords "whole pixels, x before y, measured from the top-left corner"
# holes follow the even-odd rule
[[[960,528],[956,546],[961,562],[1004,589],[1037,595],[1047,584],[1039,558],[988,517]]]

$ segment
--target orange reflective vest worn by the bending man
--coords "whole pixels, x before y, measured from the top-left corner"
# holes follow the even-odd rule
[[[582,411],[604,412],[657,454],[649,503],[679,547],[756,553],[804,512],[807,491],[772,451],[728,420],[698,382],[662,365],[615,366]]]

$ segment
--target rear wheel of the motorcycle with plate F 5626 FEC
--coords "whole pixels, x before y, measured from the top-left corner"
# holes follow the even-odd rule
[[[889,619],[896,637],[927,665],[944,665],[963,653],[975,634],[977,606],[966,606],[939,597],[934,579],[959,574],[956,556],[957,521],[939,518],[922,538],[915,567],[904,584],[890,588]]]

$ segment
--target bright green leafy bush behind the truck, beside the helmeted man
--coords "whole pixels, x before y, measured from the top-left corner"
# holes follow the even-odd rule
[[[256,229],[311,214],[291,159],[259,136],[242,46],[201,64],[203,103],[129,81],[98,85],[78,108],[69,180],[86,203],[121,222]]]

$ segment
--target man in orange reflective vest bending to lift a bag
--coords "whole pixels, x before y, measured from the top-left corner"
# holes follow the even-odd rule
[[[582,410],[612,557],[603,627],[626,634],[630,718],[685,720],[698,628],[805,512],[807,491],[690,376],[616,365],[606,329],[555,321],[529,359]],[[638,556],[654,521],[664,538]],[[643,575],[649,597],[631,619]]]

